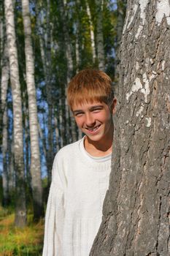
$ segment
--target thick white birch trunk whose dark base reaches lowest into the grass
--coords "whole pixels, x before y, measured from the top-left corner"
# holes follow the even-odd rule
[[[18,227],[23,227],[26,225],[26,192],[23,163],[23,115],[18,70],[18,52],[16,47],[12,0],[5,0],[4,4],[14,123],[14,154],[16,175],[15,225]]]

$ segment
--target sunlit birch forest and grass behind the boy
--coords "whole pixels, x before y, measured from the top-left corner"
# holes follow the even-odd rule
[[[0,2],[0,255],[41,255],[56,152],[82,134],[66,103],[79,70],[117,86],[125,0]]]

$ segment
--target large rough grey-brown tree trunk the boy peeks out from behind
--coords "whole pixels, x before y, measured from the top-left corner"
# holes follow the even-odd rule
[[[169,13],[169,1],[128,1],[112,173],[90,256],[170,255]]]

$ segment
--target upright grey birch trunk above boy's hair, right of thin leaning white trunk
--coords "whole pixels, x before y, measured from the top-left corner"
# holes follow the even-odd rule
[[[95,0],[96,3],[96,47],[98,57],[98,69],[104,70],[104,34],[103,34],[103,15],[102,1]]]

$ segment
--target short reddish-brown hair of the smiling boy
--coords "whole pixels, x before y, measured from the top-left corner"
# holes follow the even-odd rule
[[[67,90],[70,108],[85,102],[104,102],[112,105],[112,80],[101,70],[84,69],[72,78]]]

